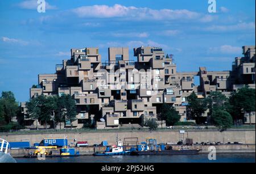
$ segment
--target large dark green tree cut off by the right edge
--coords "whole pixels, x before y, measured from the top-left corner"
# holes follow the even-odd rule
[[[255,111],[255,90],[245,86],[233,92],[229,98],[230,108],[229,112],[232,114],[234,120],[243,118],[244,113],[249,113],[251,124],[251,112]]]

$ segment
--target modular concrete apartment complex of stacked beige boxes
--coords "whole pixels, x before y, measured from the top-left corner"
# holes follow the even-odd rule
[[[176,108],[180,121],[195,121],[186,111],[185,97],[192,92],[203,98],[211,91],[229,95],[245,84],[255,88],[255,46],[242,49],[244,57],[235,58],[232,71],[199,67],[195,72],[177,72],[172,55],[166,55],[162,48],[134,48],[137,62],[129,60],[128,48],[109,48],[105,62],[98,48],[71,49],[71,59],[56,65],[55,74],[38,75],[38,86],[30,88],[30,97],[71,95],[78,113],[72,122],[75,128],[82,128],[87,121],[96,123],[97,129],[139,126],[145,118],[157,120],[163,103]],[[196,77],[200,81],[197,85]],[[24,106],[22,103],[27,127],[35,128],[37,120],[26,116]],[[207,121],[207,114],[200,117],[200,122]],[[101,121],[95,118],[99,115]],[[255,113],[253,116],[251,122],[255,123]],[[71,123],[62,125],[67,128]]]

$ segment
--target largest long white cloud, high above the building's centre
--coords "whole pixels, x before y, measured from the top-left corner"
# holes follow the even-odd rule
[[[174,20],[174,19],[196,19],[201,15],[189,10],[160,9],[153,10],[147,7],[94,5],[82,6],[72,10],[80,18],[127,18],[133,20],[155,19],[155,20]]]

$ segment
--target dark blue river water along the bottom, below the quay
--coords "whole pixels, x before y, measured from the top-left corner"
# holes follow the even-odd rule
[[[16,158],[18,163],[255,163],[253,154],[217,154],[209,160],[208,154],[199,155],[146,155],[146,156],[76,156],[63,158]]]

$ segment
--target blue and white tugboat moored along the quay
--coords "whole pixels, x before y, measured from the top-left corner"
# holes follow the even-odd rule
[[[110,148],[109,146],[106,147],[106,150],[103,153],[95,152],[94,156],[107,156],[107,155],[130,155],[130,151],[123,151],[122,141],[118,141],[116,147]]]

